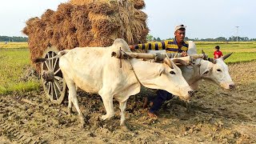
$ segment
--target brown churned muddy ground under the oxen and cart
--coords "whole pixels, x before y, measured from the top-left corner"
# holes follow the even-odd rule
[[[130,97],[126,126],[105,114],[97,95],[79,92],[88,124],[79,127],[77,113],[67,114],[67,102],[55,105],[42,91],[0,97],[0,143],[256,143],[256,62],[231,64],[232,91],[202,82],[190,102],[174,98],[162,106],[158,119],[148,118],[142,99],[152,90]]]

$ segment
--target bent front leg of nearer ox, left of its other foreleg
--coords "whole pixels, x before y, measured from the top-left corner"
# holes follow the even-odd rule
[[[110,97],[108,95],[102,95],[102,101],[106,109],[106,115],[102,115],[102,120],[113,117],[114,116],[113,97]]]

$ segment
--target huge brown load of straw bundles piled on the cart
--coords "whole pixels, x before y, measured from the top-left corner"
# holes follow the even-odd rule
[[[29,37],[30,58],[42,57],[47,46],[111,46],[116,38],[130,45],[146,42],[144,7],[143,0],[70,0],[56,11],[46,10],[41,18],[30,18],[22,30]]]

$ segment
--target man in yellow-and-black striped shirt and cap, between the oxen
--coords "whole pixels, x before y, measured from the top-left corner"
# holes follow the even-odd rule
[[[162,42],[148,42],[144,44],[138,44],[130,46],[130,50],[141,49],[141,50],[166,50],[166,53],[181,53],[182,57],[187,56],[186,52],[188,50],[188,42],[184,41],[186,35],[186,26],[178,25],[174,29],[174,39],[165,40]],[[147,103],[153,102],[153,105],[148,111],[150,118],[158,118],[156,112],[161,108],[163,102],[173,98],[173,95],[166,90],[158,90],[157,97],[150,99],[150,97],[145,98],[143,107],[146,108]]]

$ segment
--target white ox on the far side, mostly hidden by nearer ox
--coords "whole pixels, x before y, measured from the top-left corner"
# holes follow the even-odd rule
[[[147,53],[166,53],[166,50],[148,50]],[[197,54],[196,46],[192,41],[189,41],[187,54]],[[228,66],[224,62],[229,56],[230,54],[226,54],[222,58],[212,59],[211,62],[198,58],[194,66],[179,66],[179,68],[182,70],[182,75],[186,82],[193,90],[198,89],[198,82],[202,78],[211,80],[225,89],[233,89],[234,82],[230,78]]]

